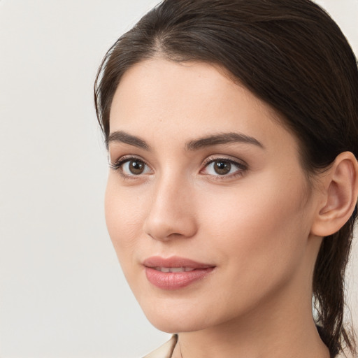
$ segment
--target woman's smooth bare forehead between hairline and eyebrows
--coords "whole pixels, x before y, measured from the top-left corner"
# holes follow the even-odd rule
[[[213,64],[150,59],[129,69],[110,110],[110,132],[175,141],[238,131],[265,145],[296,147],[278,113]]]

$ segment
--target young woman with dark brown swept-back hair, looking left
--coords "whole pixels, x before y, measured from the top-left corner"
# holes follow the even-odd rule
[[[148,357],[355,355],[358,72],[309,0],[164,0],[103,59],[108,231]],[[314,309],[313,309],[314,307]]]

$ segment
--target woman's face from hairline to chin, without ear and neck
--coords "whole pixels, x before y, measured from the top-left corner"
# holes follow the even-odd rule
[[[215,66],[129,69],[109,155],[108,231],[157,328],[205,329],[310,290],[314,194],[296,140]]]

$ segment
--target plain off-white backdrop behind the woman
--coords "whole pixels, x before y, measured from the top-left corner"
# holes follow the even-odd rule
[[[320,0],[358,53],[358,0]],[[0,357],[138,358],[145,319],[106,231],[92,85],[157,1],[0,0]],[[358,327],[358,245],[348,291]]]

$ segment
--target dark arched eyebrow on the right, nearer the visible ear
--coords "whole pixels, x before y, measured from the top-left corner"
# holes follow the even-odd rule
[[[201,148],[210,147],[211,145],[228,143],[246,143],[257,145],[259,148],[265,149],[264,145],[257,141],[256,138],[235,132],[214,134],[213,136],[206,136],[203,138],[195,139],[193,141],[189,141],[185,145],[185,148],[187,150],[198,150]]]

